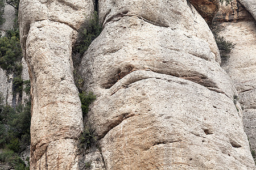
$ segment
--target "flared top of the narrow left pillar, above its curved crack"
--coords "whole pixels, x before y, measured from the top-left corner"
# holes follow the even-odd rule
[[[40,20],[52,20],[69,25],[78,31],[86,23],[93,12],[93,1],[51,1],[51,0],[22,0],[19,5],[19,26],[22,35],[22,48],[26,48],[26,36],[30,24]],[[26,56],[26,54],[24,54]]]

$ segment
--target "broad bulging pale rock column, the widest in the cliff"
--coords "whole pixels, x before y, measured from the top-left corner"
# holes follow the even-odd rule
[[[237,92],[187,1],[99,1],[82,58],[106,169],[254,169]]]

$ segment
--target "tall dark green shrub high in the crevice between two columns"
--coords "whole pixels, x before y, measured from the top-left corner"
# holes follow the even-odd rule
[[[98,35],[100,35],[102,27],[99,24],[98,14],[94,11],[86,28],[80,33],[81,41],[74,45],[73,52],[80,55],[88,49],[89,45]]]

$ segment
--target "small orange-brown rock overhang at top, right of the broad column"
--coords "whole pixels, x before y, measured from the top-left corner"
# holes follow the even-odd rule
[[[189,2],[191,2],[192,5],[195,6],[196,10],[199,11],[200,15],[203,16],[208,24],[212,23],[215,14],[220,8],[219,0],[189,0]]]

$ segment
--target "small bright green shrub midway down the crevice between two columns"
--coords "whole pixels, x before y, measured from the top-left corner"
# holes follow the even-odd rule
[[[82,104],[82,117],[84,117],[89,111],[89,105],[96,100],[96,95],[93,95],[93,92],[82,92],[79,97]]]

